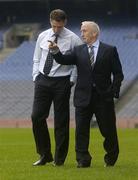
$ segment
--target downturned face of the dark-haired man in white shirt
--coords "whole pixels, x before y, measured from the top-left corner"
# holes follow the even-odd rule
[[[51,27],[52,27],[54,33],[59,34],[66,23],[64,21],[51,20],[50,24],[51,24]]]

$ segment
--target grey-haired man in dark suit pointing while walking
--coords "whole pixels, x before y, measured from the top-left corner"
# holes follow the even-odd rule
[[[49,45],[58,63],[77,66],[74,105],[78,168],[91,164],[88,146],[93,114],[104,137],[105,166],[114,166],[119,154],[114,98],[119,98],[123,72],[116,47],[100,42],[99,33],[95,22],[84,21],[81,25],[83,45],[66,55],[61,54],[55,43]]]

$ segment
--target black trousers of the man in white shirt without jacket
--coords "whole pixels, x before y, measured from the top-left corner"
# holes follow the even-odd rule
[[[54,137],[56,163],[64,163],[69,146],[70,78],[46,77],[39,74],[35,81],[32,126],[37,153],[49,159],[51,141],[46,119],[51,104],[54,106]]]

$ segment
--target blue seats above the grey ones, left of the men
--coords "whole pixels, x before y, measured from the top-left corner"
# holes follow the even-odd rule
[[[0,64],[0,80],[31,80],[35,42],[24,42]]]

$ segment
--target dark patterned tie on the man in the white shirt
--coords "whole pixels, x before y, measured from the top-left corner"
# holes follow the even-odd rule
[[[55,36],[54,42],[57,43],[58,34],[55,34],[54,36]],[[53,56],[52,56],[52,54],[50,53],[50,50],[49,50],[48,54],[47,54],[45,66],[44,66],[44,74],[45,75],[48,75],[50,73],[50,70],[51,70],[52,66],[53,66]]]

